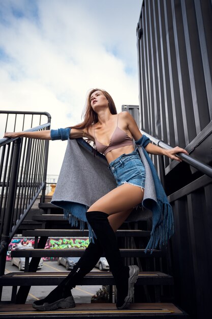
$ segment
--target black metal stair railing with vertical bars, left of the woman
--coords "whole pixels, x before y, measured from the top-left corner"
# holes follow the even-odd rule
[[[10,131],[11,127],[13,131],[17,131],[18,126],[24,129],[29,116],[31,128],[27,131],[50,129],[48,113],[1,111],[0,117],[2,115],[6,115],[5,131],[9,126]],[[41,124],[46,117],[47,123]],[[4,274],[8,245],[19,225],[39,194],[44,201],[48,144],[49,141],[28,138],[0,140],[0,275]]]

